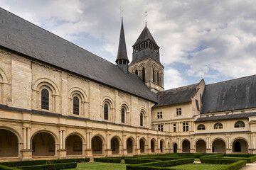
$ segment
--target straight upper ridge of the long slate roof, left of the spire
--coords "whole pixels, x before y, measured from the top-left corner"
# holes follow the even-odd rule
[[[1,7],[0,7],[0,8],[1,8]],[[46,30],[45,28],[42,28],[42,27],[40,27],[40,26],[37,26],[36,24],[31,23],[30,21],[27,21],[27,20],[24,19],[24,18],[21,18],[21,16],[17,16],[16,14],[14,14],[14,13],[12,13],[12,12],[10,12],[10,11],[7,11],[7,10],[4,9],[4,8],[1,8],[1,9],[3,9],[4,11],[6,11],[7,13],[11,13],[11,15],[16,16],[16,17],[20,18],[20,19],[23,20],[23,21],[26,21],[27,23],[32,24],[33,26],[36,26],[37,28],[40,28],[40,29],[42,29],[42,30],[45,30],[47,33],[50,33],[51,35],[54,35],[54,36],[56,36],[56,37],[58,37],[58,38],[60,38],[60,39],[62,39],[62,40],[65,40],[64,38],[60,37],[59,35],[56,35],[56,34],[54,34],[54,33],[51,33],[49,30]],[[65,40],[65,41],[68,42],[68,43],[70,43],[70,44],[72,44],[72,45],[75,45],[76,47],[79,47],[79,48],[82,49],[82,50],[85,50],[84,48],[82,48],[82,47],[76,45],[76,44],[73,43],[73,42],[70,42],[70,41],[68,41],[68,40]],[[88,50],[85,50],[85,51],[90,52],[90,51],[88,51]],[[95,55],[95,54],[92,53],[92,52],[90,52],[90,53],[91,53],[92,55]],[[105,60],[104,58],[102,58],[102,57],[100,57],[100,56],[98,56],[98,55],[95,55],[95,57],[99,57],[100,59]],[[108,61],[108,60],[105,60],[105,61],[110,62],[110,61]],[[110,63],[111,63],[111,64],[114,64],[114,63],[112,63],[112,62],[110,62]],[[115,65],[115,64],[114,64],[114,65]]]

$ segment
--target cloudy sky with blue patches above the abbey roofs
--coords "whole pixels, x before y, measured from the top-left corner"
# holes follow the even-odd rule
[[[165,89],[256,74],[254,0],[0,0],[0,6],[113,63],[121,9],[130,61],[147,11]]]

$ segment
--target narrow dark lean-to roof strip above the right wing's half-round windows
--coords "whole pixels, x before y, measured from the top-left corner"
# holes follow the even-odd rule
[[[209,116],[204,118],[198,118],[195,122],[205,122],[205,121],[214,121],[214,120],[228,120],[228,119],[240,119],[240,118],[248,118],[250,116],[256,116],[256,112],[252,113],[239,113],[233,115],[216,115]]]

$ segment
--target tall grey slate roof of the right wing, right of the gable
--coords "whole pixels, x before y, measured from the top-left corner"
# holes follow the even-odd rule
[[[201,113],[256,107],[256,75],[206,85]]]

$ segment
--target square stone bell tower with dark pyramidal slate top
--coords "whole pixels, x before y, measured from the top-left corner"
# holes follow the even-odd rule
[[[137,74],[151,91],[163,91],[164,66],[159,59],[160,47],[147,26],[144,27],[132,48],[132,62],[129,64],[129,72]]]

